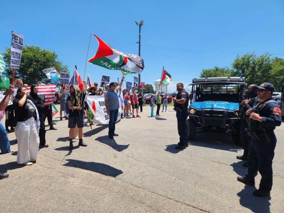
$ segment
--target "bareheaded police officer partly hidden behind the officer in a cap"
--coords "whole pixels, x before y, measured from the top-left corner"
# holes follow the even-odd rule
[[[246,89],[246,99],[243,100],[240,104],[240,111],[239,111],[239,117],[242,120],[241,124],[241,130],[240,130],[240,135],[241,135],[241,141],[243,143],[243,155],[237,155],[237,159],[239,160],[247,160],[248,159],[248,154],[249,154],[249,143],[251,141],[251,138],[248,136],[246,132],[246,128],[248,128],[246,119],[246,111],[248,109],[252,109],[253,106],[257,104],[259,101],[257,97],[257,88],[255,86],[258,86],[257,84],[251,84],[248,86]],[[247,167],[247,163],[243,163],[243,166]]]

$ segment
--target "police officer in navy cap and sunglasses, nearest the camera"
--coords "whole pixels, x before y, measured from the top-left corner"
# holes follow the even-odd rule
[[[274,129],[281,125],[282,116],[278,103],[272,99],[274,86],[262,83],[256,88],[260,102],[246,112],[249,116],[247,133],[251,136],[248,172],[245,177],[238,177],[237,180],[254,185],[254,178],[259,171],[259,189],[253,191],[253,195],[263,197],[269,196],[272,189],[272,160],[277,141]]]

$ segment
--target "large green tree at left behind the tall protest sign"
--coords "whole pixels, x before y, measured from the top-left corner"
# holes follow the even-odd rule
[[[6,48],[4,55],[4,61],[7,68],[10,67],[11,50]],[[15,70],[15,79],[21,78],[26,84],[35,84],[37,81],[42,81],[45,84],[49,84],[50,80],[46,78],[46,75],[42,72],[43,69],[55,67],[57,71],[69,72],[68,66],[63,65],[58,60],[58,55],[54,51],[48,49],[41,49],[39,46],[25,45],[23,47],[22,59],[20,69]],[[10,81],[12,82],[12,69],[7,69]]]

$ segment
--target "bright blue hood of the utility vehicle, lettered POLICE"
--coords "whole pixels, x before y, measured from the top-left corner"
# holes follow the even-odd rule
[[[234,111],[239,109],[239,103],[232,103],[227,101],[203,101],[203,102],[192,102],[190,107],[195,109],[227,109]]]

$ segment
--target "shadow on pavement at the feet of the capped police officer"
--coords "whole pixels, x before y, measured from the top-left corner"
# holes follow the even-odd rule
[[[270,212],[269,201],[271,197],[256,197],[252,194],[254,190],[256,190],[254,186],[245,185],[244,189],[237,194],[240,197],[240,204],[250,209],[252,212]]]

